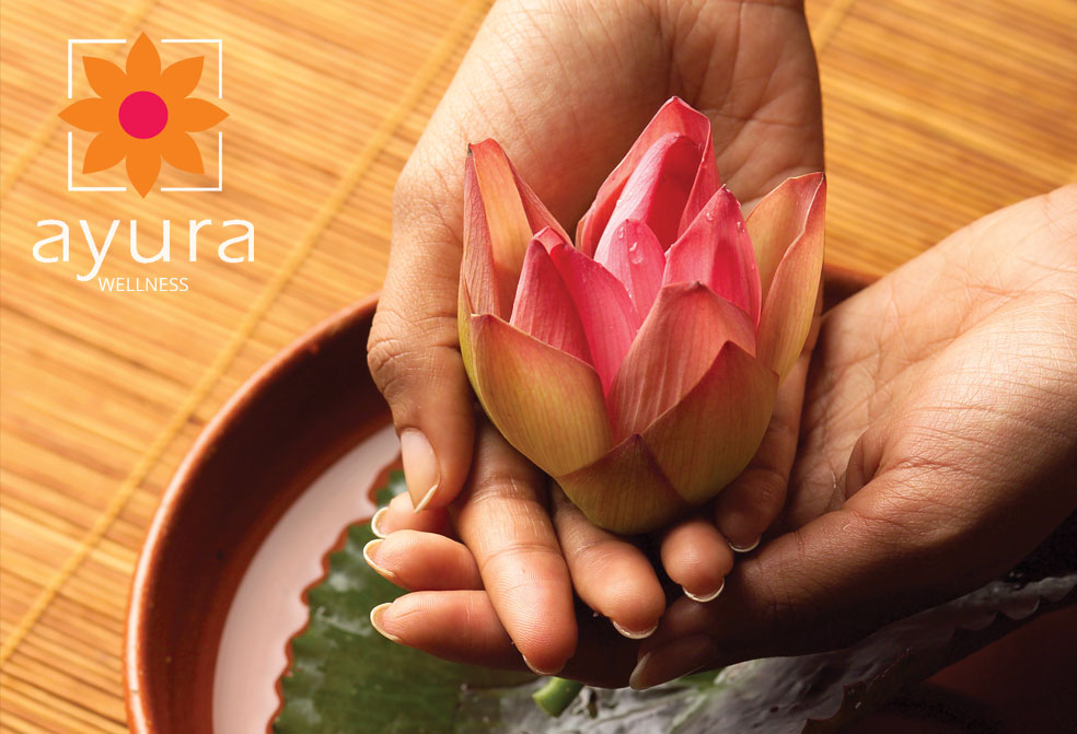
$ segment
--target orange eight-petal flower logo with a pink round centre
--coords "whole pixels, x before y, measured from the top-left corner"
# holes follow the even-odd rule
[[[201,153],[190,132],[208,130],[228,113],[206,100],[190,98],[202,72],[202,57],[176,61],[164,71],[153,43],[143,33],[127,55],[126,72],[112,61],[82,57],[90,86],[100,96],[80,100],[60,118],[96,132],[82,173],[111,168],[127,160],[127,177],[143,197],[161,173],[161,160],[189,173],[202,173]]]

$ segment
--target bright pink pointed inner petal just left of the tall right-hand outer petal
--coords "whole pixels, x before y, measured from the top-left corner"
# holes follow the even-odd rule
[[[760,276],[740,202],[722,186],[665,253],[662,284],[703,281],[760,321]]]

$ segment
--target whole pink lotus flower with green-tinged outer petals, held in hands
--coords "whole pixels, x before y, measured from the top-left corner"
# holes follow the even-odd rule
[[[460,343],[490,420],[613,532],[715,497],[758,448],[808,337],[825,187],[789,178],[745,221],[709,120],[674,97],[574,246],[495,141],[471,145]]]

